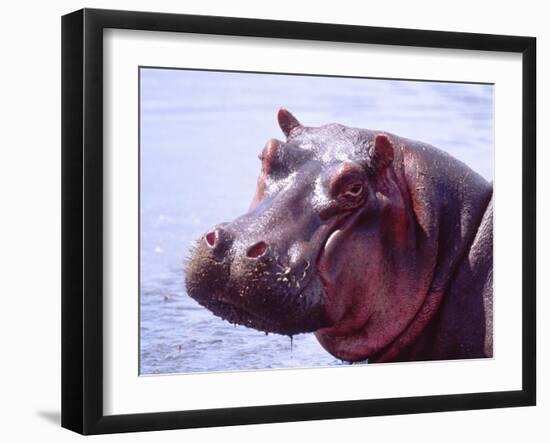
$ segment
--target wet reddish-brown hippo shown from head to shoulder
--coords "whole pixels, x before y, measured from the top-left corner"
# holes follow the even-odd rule
[[[188,294],[346,362],[492,357],[492,183],[389,132],[278,122],[248,212],[194,244]]]

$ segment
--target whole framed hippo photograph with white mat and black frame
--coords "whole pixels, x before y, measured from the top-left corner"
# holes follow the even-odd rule
[[[534,405],[531,37],[62,19],[62,425]]]

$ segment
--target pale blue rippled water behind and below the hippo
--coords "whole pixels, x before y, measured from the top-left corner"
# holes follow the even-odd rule
[[[422,140],[493,177],[493,87],[141,69],[140,373],[341,364],[313,334],[233,325],[185,293],[183,260],[211,226],[246,212],[267,139],[286,107]]]

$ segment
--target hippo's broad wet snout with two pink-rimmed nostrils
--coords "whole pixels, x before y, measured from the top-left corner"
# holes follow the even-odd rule
[[[188,294],[214,314],[266,332],[296,334],[324,321],[324,290],[311,260],[290,263],[269,239],[218,225],[196,243]]]

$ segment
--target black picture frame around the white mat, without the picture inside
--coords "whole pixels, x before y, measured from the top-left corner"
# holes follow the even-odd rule
[[[103,30],[192,32],[522,54],[522,388],[131,415],[103,413]],[[83,9],[62,18],[62,426],[82,434],[535,405],[536,39]]]

